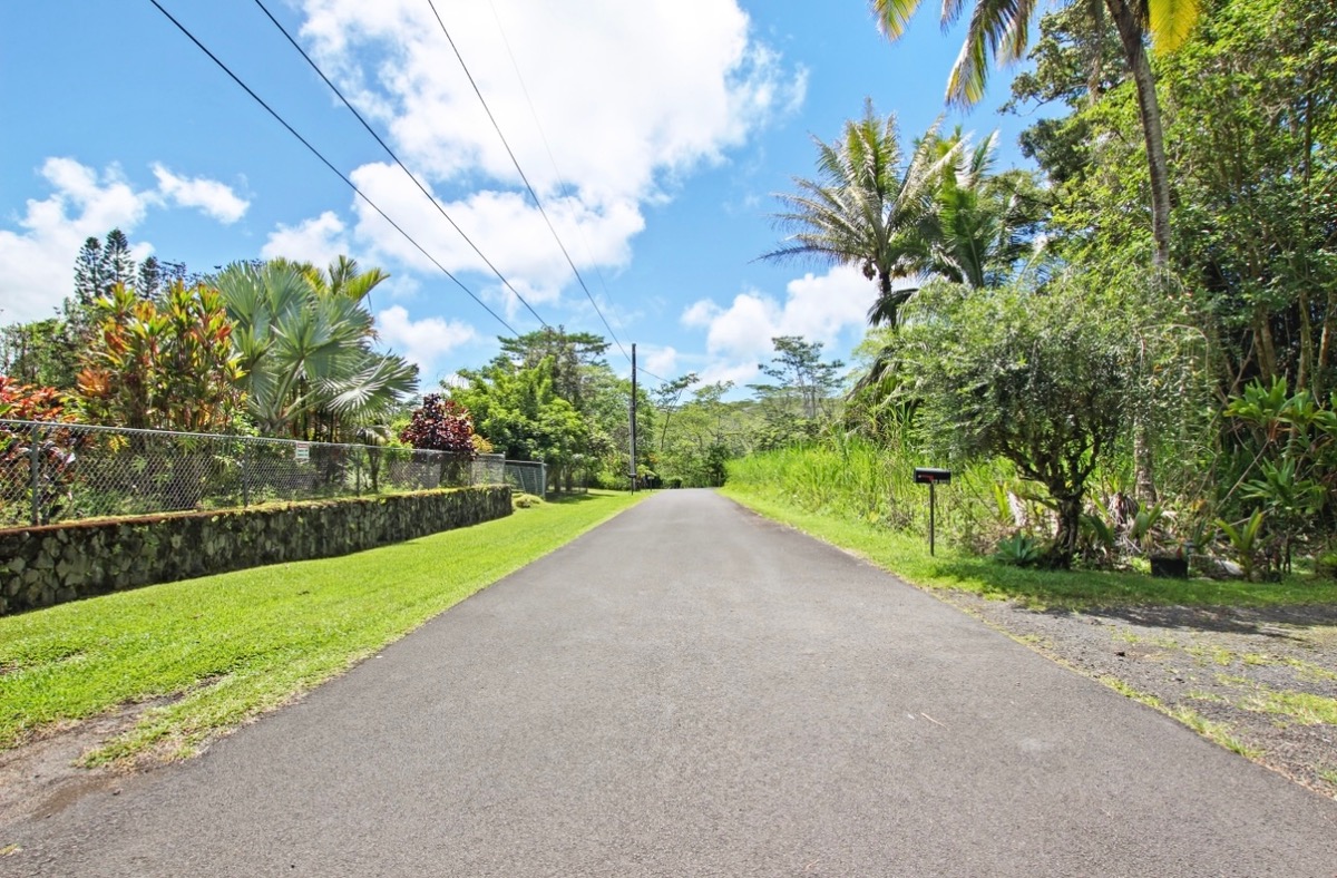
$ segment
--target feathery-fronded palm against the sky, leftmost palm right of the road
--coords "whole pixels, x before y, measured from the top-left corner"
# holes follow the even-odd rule
[[[777,195],[787,210],[775,221],[794,231],[785,246],[761,258],[860,266],[877,282],[869,321],[894,326],[913,290],[896,289],[893,281],[920,273],[935,184],[956,156],[953,150],[936,154],[935,132],[904,160],[896,115],[880,119],[873,102],[865,100],[864,118],[846,122],[841,139],[826,143],[814,136],[818,179],[794,178],[798,191]]]

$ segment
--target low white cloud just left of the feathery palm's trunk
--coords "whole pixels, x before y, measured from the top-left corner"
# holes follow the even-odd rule
[[[705,329],[706,349],[714,355],[765,358],[777,335],[834,343],[842,331],[866,322],[877,298],[873,283],[848,266],[805,274],[790,281],[785,293],[783,302],[755,290],[739,293],[727,307],[701,299],[683,311],[682,323]]]

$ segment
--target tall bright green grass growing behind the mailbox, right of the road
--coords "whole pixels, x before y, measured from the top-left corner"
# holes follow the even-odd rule
[[[786,505],[892,531],[928,528],[929,490],[916,466],[939,466],[902,449],[860,437],[761,452],[729,462],[729,484]],[[996,486],[1015,478],[1003,462],[972,464],[937,488],[939,533],[956,543],[988,541],[1009,524]]]

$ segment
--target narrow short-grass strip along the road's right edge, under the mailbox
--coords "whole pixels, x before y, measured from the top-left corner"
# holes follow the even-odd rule
[[[721,489],[767,519],[856,552],[882,569],[925,588],[948,588],[985,597],[1012,599],[1031,607],[1227,605],[1269,607],[1337,603],[1337,583],[1289,577],[1281,583],[1238,580],[1171,580],[1142,573],[1036,571],[1008,567],[937,544],[928,537],[797,509],[781,498],[726,485]]]

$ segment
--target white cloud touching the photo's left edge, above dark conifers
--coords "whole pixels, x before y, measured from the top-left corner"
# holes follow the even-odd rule
[[[74,290],[75,257],[84,241],[112,229],[131,233],[156,203],[152,191],[136,191],[115,166],[99,174],[70,158],[49,158],[41,176],[49,198],[28,199],[21,233],[0,229],[0,322],[51,317]],[[132,247],[135,258],[152,251]]]

